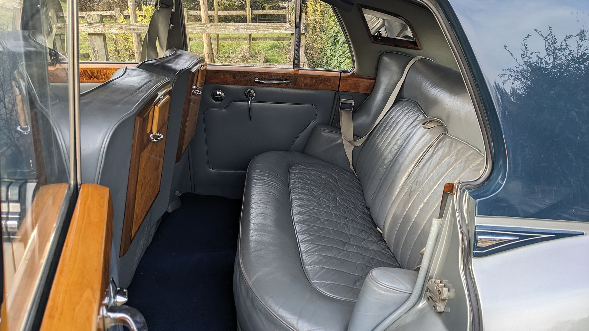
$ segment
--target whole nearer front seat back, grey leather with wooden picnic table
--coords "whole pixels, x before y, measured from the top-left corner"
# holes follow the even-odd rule
[[[82,183],[110,188],[120,256],[128,250],[143,254],[141,245],[131,243],[141,241],[135,237],[160,190],[170,95],[167,77],[134,67],[119,69],[109,81],[80,95]],[[67,102],[57,102],[52,112],[68,137]],[[121,285],[130,282],[135,267],[122,266]]]

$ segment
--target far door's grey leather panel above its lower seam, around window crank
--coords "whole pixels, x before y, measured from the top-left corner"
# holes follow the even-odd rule
[[[204,88],[204,99],[208,100],[203,101],[202,133],[207,165],[213,170],[247,170],[249,161],[264,151],[302,151],[312,128],[329,123],[335,91],[251,87],[256,96],[250,120],[244,97],[249,88]],[[217,89],[225,93],[222,102],[211,98]]]

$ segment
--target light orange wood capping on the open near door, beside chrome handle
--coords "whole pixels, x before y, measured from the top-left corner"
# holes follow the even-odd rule
[[[102,330],[112,242],[108,187],[82,184],[49,292],[41,331]]]

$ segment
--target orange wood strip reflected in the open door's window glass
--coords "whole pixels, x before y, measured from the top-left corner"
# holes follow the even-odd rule
[[[12,281],[6,277],[4,282],[9,284],[4,291],[2,306],[6,309],[6,318],[2,319],[5,330],[19,330],[28,312],[29,304],[37,289],[37,282],[43,270],[45,257],[55,236],[55,228],[59,219],[59,211],[64,203],[68,190],[67,183],[48,184],[41,186],[22,220],[18,231],[20,239],[11,244],[15,266]],[[6,259],[6,257],[5,257]],[[5,266],[9,261],[4,261]],[[6,269],[6,267],[5,267]]]

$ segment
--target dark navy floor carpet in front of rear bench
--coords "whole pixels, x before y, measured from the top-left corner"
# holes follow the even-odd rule
[[[241,200],[186,193],[128,287],[150,331],[237,329],[233,263]]]

